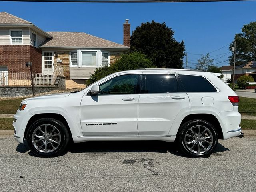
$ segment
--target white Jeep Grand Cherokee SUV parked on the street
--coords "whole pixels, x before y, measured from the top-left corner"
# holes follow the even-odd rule
[[[218,139],[239,136],[239,97],[216,74],[143,69],[111,74],[80,92],[22,101],[14,138],[37,156],[70,141],[162,140],[187,156],[209,156]]]

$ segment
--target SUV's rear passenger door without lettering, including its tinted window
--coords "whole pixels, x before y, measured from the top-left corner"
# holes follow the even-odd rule
[[[139,135],[168,135],[176,116],[190,112],[189,98],[175,73],[143,72],[138,104]]]

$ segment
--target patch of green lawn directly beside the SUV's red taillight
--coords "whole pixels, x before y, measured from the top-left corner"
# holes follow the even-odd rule
[[[238,111],[242,115],[256,115],[256,99],[240,97]]]

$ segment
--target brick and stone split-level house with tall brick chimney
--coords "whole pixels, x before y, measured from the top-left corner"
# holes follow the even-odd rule
[[[130,24],[124,23],[124,45],[83,32],[45,32],[31,22],[0,12],[0,71],[52,74],[63,66],[64,76],[88,79],[96,67],[114,62],[130,50]]]

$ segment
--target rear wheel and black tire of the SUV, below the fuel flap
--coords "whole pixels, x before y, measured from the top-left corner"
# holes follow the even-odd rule
[[[218,133],[214,126],[205,120],[190,120],[181,126],[178,144],[186,156],[205,158],[214,152],[218,144]]]

